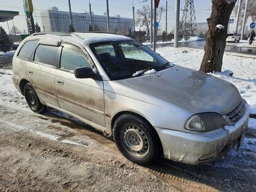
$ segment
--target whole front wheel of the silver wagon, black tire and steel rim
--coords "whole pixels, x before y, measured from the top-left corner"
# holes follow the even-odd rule
[[[148,165],[156,160],[161,148],[152,125],[132,114],[124,114],[116,119],[113,137],[122,155],[140,165]]]

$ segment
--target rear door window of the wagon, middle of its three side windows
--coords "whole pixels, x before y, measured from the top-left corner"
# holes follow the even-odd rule
[[[59,47],[39,45],[35,50],[35,59],[39,63],[56,66],[57,51]]]

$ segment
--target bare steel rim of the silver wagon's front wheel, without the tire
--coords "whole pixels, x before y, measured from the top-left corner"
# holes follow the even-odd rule
[[[125,124],[121,130],[121,141],[127,152],[143,158],[149,153],[149,139],[142,128],[135,124]]]

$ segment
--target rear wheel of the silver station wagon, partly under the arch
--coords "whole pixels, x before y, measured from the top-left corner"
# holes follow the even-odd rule
[[[29,108],[35,113],[42,113],[45,110],[45,106],[40,102],[35,89],[30,83],[24,86],[24,95]]]

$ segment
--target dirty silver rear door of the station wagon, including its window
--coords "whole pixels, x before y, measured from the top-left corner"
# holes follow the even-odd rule
[[[60,107],[55,95],[55,70],[59,46],[39,44],[33,61],[28,63],[28,77],[43,104]]]

